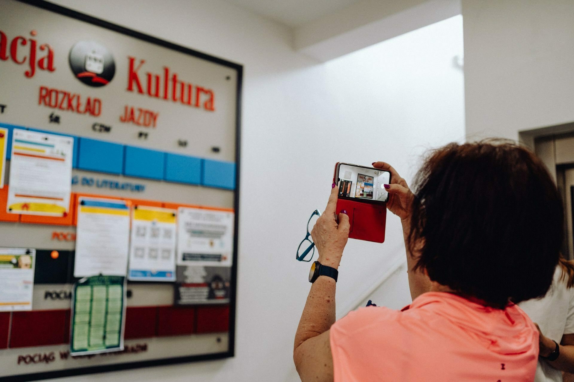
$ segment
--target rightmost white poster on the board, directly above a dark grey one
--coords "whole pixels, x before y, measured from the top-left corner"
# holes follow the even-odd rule
[[[234,219],[232,211],[180,207],[178,265],[231,266]]]

